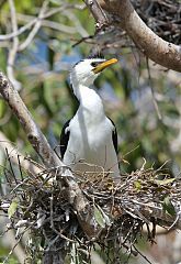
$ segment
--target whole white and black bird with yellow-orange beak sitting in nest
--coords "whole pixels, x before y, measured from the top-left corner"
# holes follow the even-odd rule
[[[99,174],[104,169],[115,180],[120,178],[116,128],[105,116],[102,99],[92,88],[99,74],[116,62],[116,58],[86,58],[70,72],[79,108],[63,128],[60,154],[63,162],[77,174]]]

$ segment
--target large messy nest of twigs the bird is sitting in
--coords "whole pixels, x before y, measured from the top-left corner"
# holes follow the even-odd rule
[[[147,239],[154,242],[159,218],[156,212],[155,217],[151,216],[155,205],[161,210],[165,207],[165,211],[168,211],[166,224],[176,213],[173,208],[171,212],[171,202],[167,206],[168,198],[173,202],[181,196],[179,180],[170,178],[162,168],[146,169],[145,164],[132,174],[122,175],[121,183],[117,184],[106,174],[91,178],[84,174],[77,182],[93,208],[92,221],[102,228],[101,233],[90,238],[79,224],[77,212],[68,201],[66,187],[55,177],[55,168],[44,169],[38,175],[27,175],[21,165],[19,172],[14,172],[11,161],[9,162],[10,168],[4,169],[9,191],[1,197],[0,208],[9,218],[7,231],[15,231],[18,243],[31,231],[26,245],[29,263],[37,263],[46,252],[68,252],[69,257],[72,255],[76,261],[79,258],[89,263],[94,249],[106,254],[106,263],[114,263],[115,260],[121,263],[123,254],[128,260],[132,254],[139,253],[136,242],[142,237],[145,223]],[[173,184],[176,188],[172,188]],[[151,230],[150,222],[154,223]]]

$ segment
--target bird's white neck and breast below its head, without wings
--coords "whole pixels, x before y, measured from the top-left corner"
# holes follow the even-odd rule
[[[118,162],[112,141],[114,127],[104,113],[102,100],[93,89],[82,85],[77,87],[77,94],[80,107],[67,128],[70,134],[64,163],[81,173],[104,169],[118,177]]]

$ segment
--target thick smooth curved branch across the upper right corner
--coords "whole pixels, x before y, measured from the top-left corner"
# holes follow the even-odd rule
[[[139,18],[129,0],[99,0],[99,3],[114,15],[120,26],[148,58],[163,67],[181,72],[181,48],[156,35]],[[93,16],[95,19],[94,14]]]

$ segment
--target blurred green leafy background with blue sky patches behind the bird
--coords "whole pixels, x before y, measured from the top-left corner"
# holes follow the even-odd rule
[[[42,3],[42,0],[15,1],[19,28],[38,14]],[[65,7],[65,10],[45,20],[49,26],[41,28],[27,48],[18,53],[14,65],[15,78],[22,87],[20,95],[53,147],[58,144],[64,123],[77,109],[68,79],[71,65],[87,57],[95,46],[100,48],[99,38],[92,41],[93,44],[90,38],[73,46],[82,37],[94,33],[94,21],[87,9],[80,9],[82,1],[75,4],[71,0],[52,0],[48,8],[63,4],[71,4],[71,8]],[[1,0],[0,9],[0,34],[7,34],[11,32],[8,1]],[[20,41],[23,42],[27,34],[29,31],[21,34]],[[116,35],[109,33],[106,38],[112,38],[113,44]],[[148,167],[156,168],[168,161],[170,174],[179,177],[181,77],[178,73],[147,62],[133,43],[128,43],[131,45],[123,45],[122,48],[110,45],[104,50],[105,57],[115,56],[118,64],[106,69],[95,81],[95,88],[105,102],[105,111],[117,128],[122,172],[139,168],[143,158]],[[10,46],[11,42],[0,43],[0,69],[3,72],[7,70]],[[2,98],[0,131],[22,153],[37,158],[19,121]],[[4,157],[0,152],[2,165]],[[9,252],[7,245],[2,240],[1,257]],[[142,248],[147,249],[146,245]],[[167,263],[171,263],[169,261],[168,256]],[[9,263],[18,263],[15,256]]]

